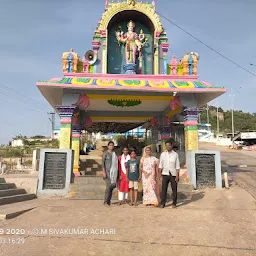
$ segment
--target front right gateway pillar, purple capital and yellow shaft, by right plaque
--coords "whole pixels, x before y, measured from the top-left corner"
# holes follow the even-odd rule
[[[185,150],[198,150],[198,108],[184,110]]]

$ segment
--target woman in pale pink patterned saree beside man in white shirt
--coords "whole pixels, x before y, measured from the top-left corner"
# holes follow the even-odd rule
[[[159,193],[157,186],[158,159],[151,156],[151,147],[146,147],[140,160],[142,174],[143,204],[158,206]]]

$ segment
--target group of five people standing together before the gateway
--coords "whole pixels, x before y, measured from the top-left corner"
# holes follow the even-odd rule
[[[151,147],[147,146],[138,162],[136,152],[131,151],[129,154],[127,147],[123,149],[123,154],[117,157],[114,143],[110,141],[102,157],[103,179],[106,181],[104,205],[110,206],[112,192],[117,187],[120,205],[128,203],[129,197],[130,206],[137,206],[139,183],[142,182],[143,204],[164,208],[170,183],[173,192],[172,207],[175,208],[180,162],[178,154],[173,150],[173,140],[168,140],[165,144],[166,151],[161,154],[160,160],[152,156]]]

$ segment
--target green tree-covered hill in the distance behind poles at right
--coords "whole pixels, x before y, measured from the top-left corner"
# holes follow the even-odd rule
[[[207,111],[201,112],[201,123],[207,123]],[[219,126],[220,132],[231,133],[232,132],[232,117],[231,110],[223,110],[219,108]],[[209,106],[209,121],[212,125],[212,131],[217,129],[217,108]],[[256,131],[256,113],[245,113],[241,110],[234,110],[234,127],[235,132],[240,131]]]

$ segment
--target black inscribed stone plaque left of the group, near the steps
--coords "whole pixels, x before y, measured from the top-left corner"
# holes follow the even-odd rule
[[[66,162],[66,153],[45,153],[43,189],[65,188]]]

